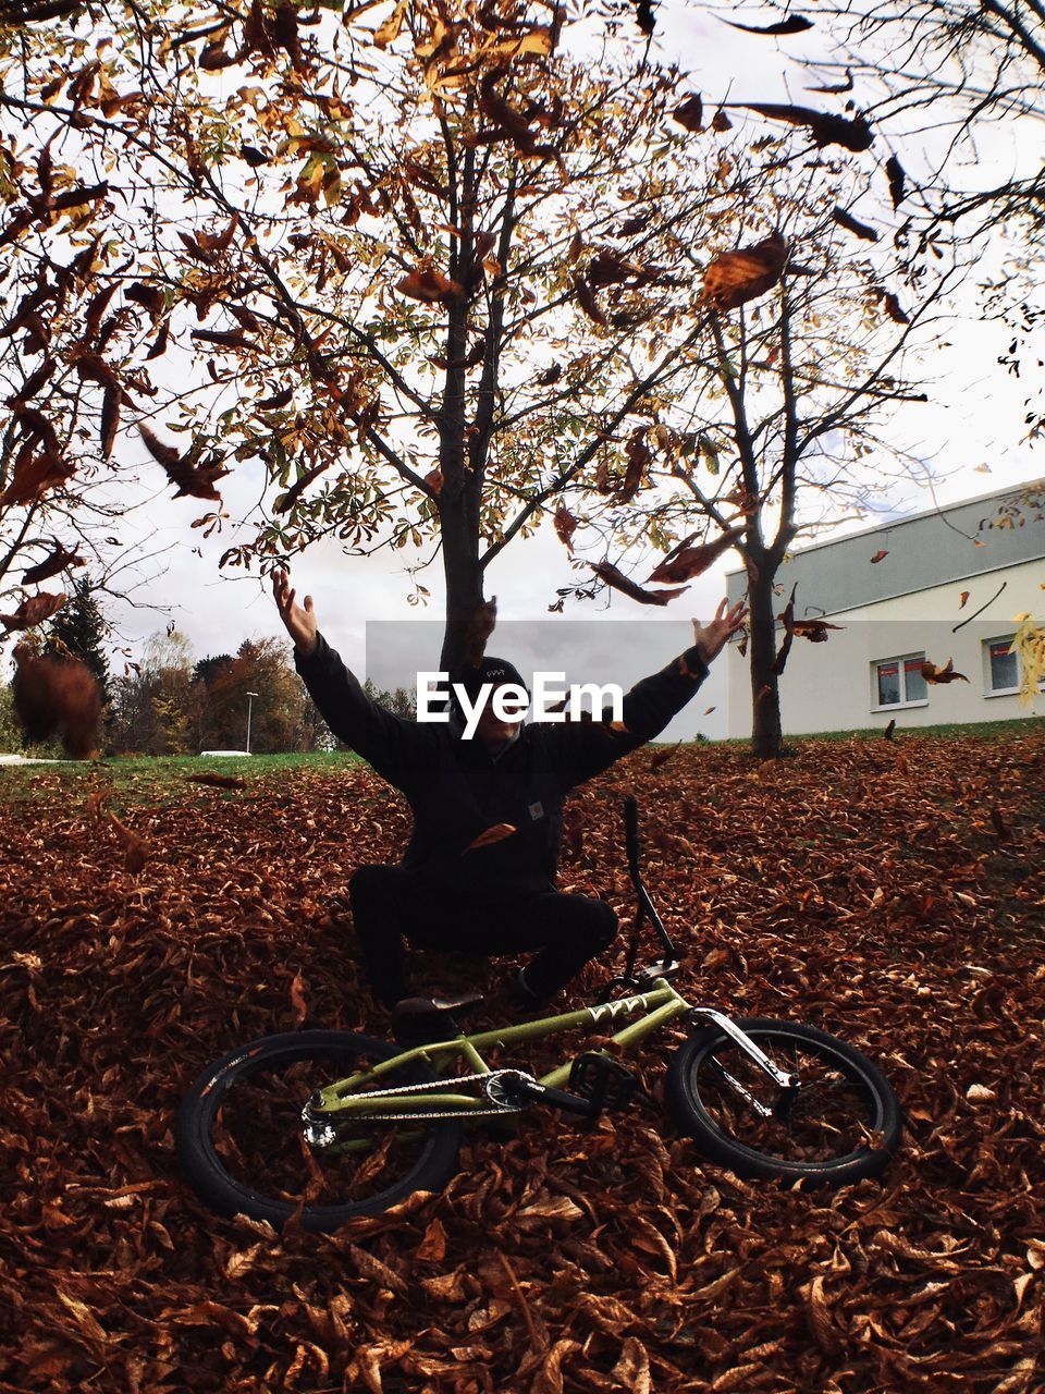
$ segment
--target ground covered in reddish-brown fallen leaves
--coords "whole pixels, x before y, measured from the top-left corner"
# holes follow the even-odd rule
[[[40,767],[0,807],[0,1386],[1045,1387],[1045,737],[651,761],[578,790],[562,884],[628,912],[634,786],[683,988],[878,1058],[908,1118],[882,1182],[741,1184],[642,1101],[595,1132],[535,1115],[477,1136],[443,1195],[332,1238],[217,1220],[174,1167],[180,1094],[293,1029],[298,974],[312,1020],[383,1029],[329,898],[397,856],[407,810],[347,761],[121,796],[135,877],[86,803],[106,769]],[[467,979],[442,965],[443,986]],[[640,1059],[655,1096],[673,1044]]]

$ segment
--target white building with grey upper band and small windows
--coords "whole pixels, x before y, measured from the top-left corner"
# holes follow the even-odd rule
[[[786,735],[861,726],[935,726],[1045,715],[1019,698],[1009,652],[1016,616],[1045,619],[1045,481],[917,513],[796,552],[780,567],[780,613],[797,585],[796,619],[840,626],[826,643],[796,636],[780,679]],[[1035,506],[1037,505],[1037,506]],[[744,572],[727,579],[730,601]],[[777,643],[783,627],[777,629]],[[927,684],[921,665],[968,682]],[[751,677],[729,648],[729,735],[751,733]]]

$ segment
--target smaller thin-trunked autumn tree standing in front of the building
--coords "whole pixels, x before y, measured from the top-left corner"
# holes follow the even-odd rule
[[[883,418],[897,404],[927,400],[908,382],[906,355],[920,339],[931,342],[950,279],[925,289],[911,265],[903,305],[875,258],[853,251],[861,234],[846,208],[858,188],[853,171],[839,169],[797,198],[784,163],[743,224],[720,226],[726,240],[740,240],[743,227],[754,247],[705,268],[705,287],[725,290],[708,318],[684,411],[665,403],[651,427],[658,489],[623,505],[610,492],[602,516],[588,520],[602,537],[670,548],[649,577],[662,584],[686,583],[726,551],[740,555],[751,611],[752,751],[762,758],[782,751],[779,680],[794,637],[829,637],[829,626],[796,620],[794,608],[783,605],[780,567],[800,535],[862,510],[886,467],[904,466],[904,452],[882,432]],[[759,216],[762,240],[754,241]],[[626,584],[619,572],[599,574],[609,585]],[[564,588],[559,604],[570,590],[591,597],[596,588],[591,581]],[[674,594],[640,598],[663,604]]]

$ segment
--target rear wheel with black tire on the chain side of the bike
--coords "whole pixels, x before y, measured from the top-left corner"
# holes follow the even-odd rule
[[[302,1136],[301,1108],[314,1089],[400,1050],[347,1032],[294,1032],[229,1051],[195,1080],[174,1121],[192,1189],[219,1214],[276,1228],[302,1206],[302,1227],[320,1232],[380,1214],[415,1190],[440,1190],[457,1171],[454,1119],[359,1124],[354,1140],[366,1150],[340,1156],[311,1149]],[[418,1066],[387,1076],[386,1087],[432,1078]]]

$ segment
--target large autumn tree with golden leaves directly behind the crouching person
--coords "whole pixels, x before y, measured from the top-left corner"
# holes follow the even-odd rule
[[[209,371],[177,420],[164,395],[149,413],[187,446],[150,449],[217,505],[208,528],[237,461],[280,491],[226,563],[436,539],[453,666],[493,559],[669,390],[697,337],[676,229],[743,191],[676,160],[676,78],[627,56],[588,75],[562,10],[359,14],[114,6],[103,59],[61,15],[0,100],[38,148],[72,127],[124,156],[111,226],[138,258],[116,304],[152,315],[150,355]]]

